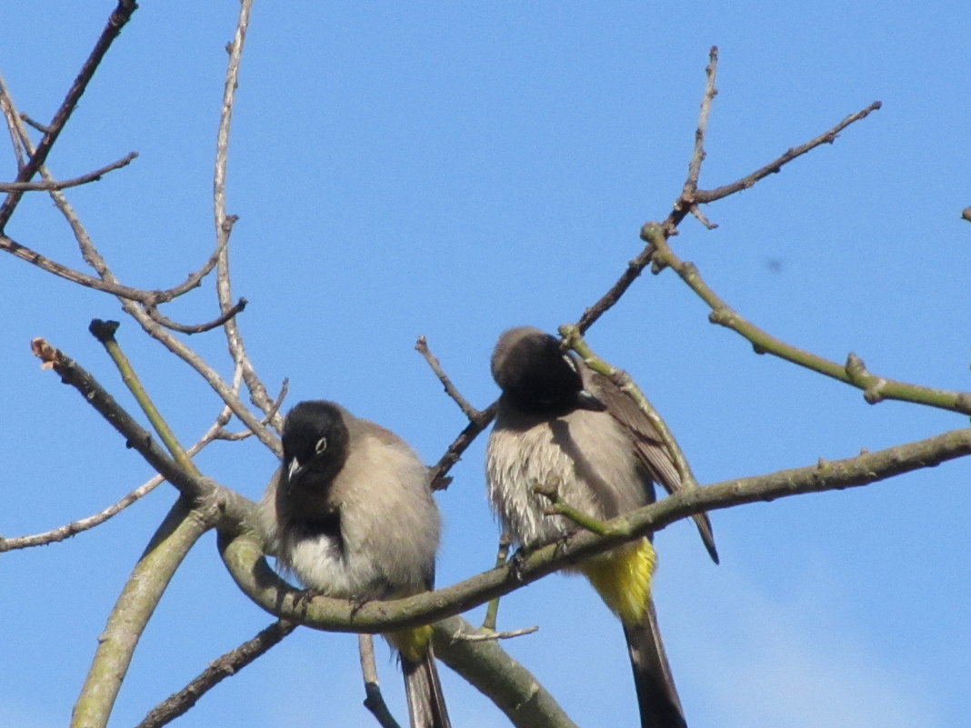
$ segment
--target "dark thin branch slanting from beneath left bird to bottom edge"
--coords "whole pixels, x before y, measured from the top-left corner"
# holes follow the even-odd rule
[[[199,698],[216,687],[219,682],[236,675],[257,657],[279,645],[296,628],[296,624],[283,619],[273,622],[251,640],[211,662],[209,667],[185,685],[182,690],[173,693],[152,708],[136,728],[160,728],[160,726],[171,723],[177,717],[189,711]]]

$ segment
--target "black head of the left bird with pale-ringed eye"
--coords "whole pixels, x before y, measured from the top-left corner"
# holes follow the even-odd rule
[[[290,490],[325,488],[348,459],[348,425],[330,402],[296,405],[286,415],[282,439],[283,472]]]

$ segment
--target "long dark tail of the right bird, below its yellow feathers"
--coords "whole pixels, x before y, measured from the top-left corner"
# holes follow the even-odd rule
[[[623,635],[627,638],[630,665],[634,669],[641,728],[687,728],[661,642],[653,600],[648,601],[644,618],[638,624],[624,625]]]

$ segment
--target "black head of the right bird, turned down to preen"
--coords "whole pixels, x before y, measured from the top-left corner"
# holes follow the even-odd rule
[[[499,337],[492,378],[519,410],[531,414],[602,412],[606,406],[584,388],[577,361],[540,329],[520,326]]]

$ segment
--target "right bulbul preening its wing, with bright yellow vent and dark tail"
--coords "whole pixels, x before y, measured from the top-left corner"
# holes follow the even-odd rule
[[[578,526],[547,514],[536,488],[601,520],[654,501],[653,483],[681,487],[674,462],[651,421],[617,385],[589,369],[559,341],[522,326],[499,337],[491,361],[502,389],[485,456],[488,497],[506,533],[531,548]],[[695,517],[712,558],[718,553],[704,513]],[[589,579],[623,625],[642,728],[686,728],[651,598],[649,539],[619,546],[571,567]]]

